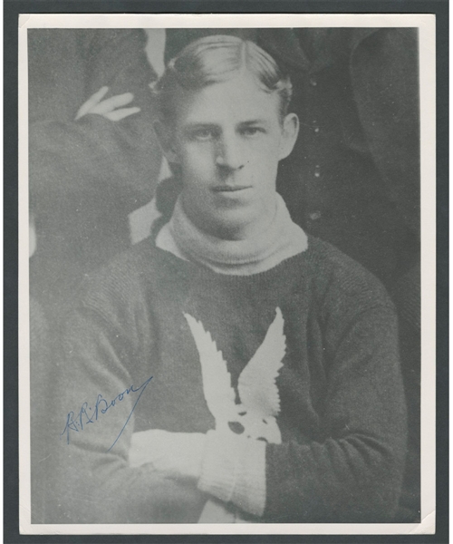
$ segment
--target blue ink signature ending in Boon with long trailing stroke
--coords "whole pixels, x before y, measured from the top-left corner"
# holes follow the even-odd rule
[[[116,442],[119,441],[120,436],[124,429],[126,428],[126,425],[129,423],[130,417],[132,416],[132,413],[135,410],[135,407],[137,406],[137,403],[140,401],[140,396],[144,393],[145,389],[147,388],[147,385],[152,380],[152,376],[148,378],[146,382],[140,385],[140,387],[134,387],[133,385],[130,385],[127,389],[125,389],[122,393],[117,394],[117,396],[108,403],[100,394],[98,394],[98,398],[96,399],[96,403],[94,403],[94,408],[88,405],[88,403],[83,403],[82,407],[75,415],[74,412],[68,413],[66,417],[66,425],[64,427],[63,432],[60,433],[60,436],[63,436],[63,434],[66,434],[66,440],[69,444],[70,442],[70,434],[71,431],[80,432],[83,431],[83,428],[88,425],[89,423],[95,423],[98,421],[98,418],[100,414],[106,413],[108,410],[111,409],[112,406],[115,406],[116,403],[120,403],[125,396],[127,396],[130,393],[139,393],[139,396],[137,397],[137,400],[135,401],[134,405],[132,406],[132,410],[130,411],[130,414],[128,416],[128,419],[126,420],[126,423],[122,426],[122,429],[120,431],[120,434],[116,437],[115,442],[111,444],[111,447],[107,450],[107,452],[111,451],[111,448],[116,444]],[[90,413],[89,413],[90,412]]]

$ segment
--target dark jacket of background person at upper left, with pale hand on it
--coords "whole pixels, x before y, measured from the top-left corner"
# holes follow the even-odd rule
[[[34,295],[58,305],[84,274],[130,245],[128,214],[154,194],[161,153],[152,127],[151,69],[141,29],[28,31],[29,179],[36,217]],[[82,103],[132,92],[122,121],[88,114]]]

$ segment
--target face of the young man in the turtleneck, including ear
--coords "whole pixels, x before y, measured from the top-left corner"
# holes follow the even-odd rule
[[[189,219],[225,239],[267,227],[275,216],[278,161],[296,136],[295,115],[282,122],[278,95],[262,91],[250,73],[180,92],[172,145]]]

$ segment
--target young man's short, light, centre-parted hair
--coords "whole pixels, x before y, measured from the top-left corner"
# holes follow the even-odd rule
[[[231,35],[211,35],[188,44],[169,61],[155,87],[162,121],[173,121],[179,89],[196,91],[226,82],[243,72],[252,73],[264,92],[277,92],[280,117],[288,112],[293,86],[272,56],[253,42]]]

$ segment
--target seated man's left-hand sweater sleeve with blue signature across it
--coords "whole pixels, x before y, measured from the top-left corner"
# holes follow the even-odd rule
[[[195,483],[128,461],[137,407],[152,395],[153,383],[149,364],[140,364],[134,324],[146,317],[121,307],[115,316],[108,306],[82,305],[66,327],[55,393],[59,506],[53,522],[197,522],[206,496]],[[130,373],[134,358],[143,370]]]

